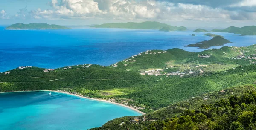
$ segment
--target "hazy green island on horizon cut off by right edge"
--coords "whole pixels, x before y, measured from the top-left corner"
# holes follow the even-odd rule
[[[241,35],[256,35],[256,26],[244,26],[241,28],[230,26],[226,29],[213,29],[211,32],[229,32]]]

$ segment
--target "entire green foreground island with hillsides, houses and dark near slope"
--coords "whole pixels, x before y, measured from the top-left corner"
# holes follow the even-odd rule
[[[146,113],[92,130],[254,130],[255,63],[256,45],[148,50],[110,66],[21,66],[0,74],[0,92],[58,90]]]

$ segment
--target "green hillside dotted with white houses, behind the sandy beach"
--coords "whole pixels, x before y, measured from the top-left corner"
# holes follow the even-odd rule
[[[255,64],[255,59],[249,60],[255,50],[255,45],[197,53],[174,48],[143,52],[107,67],[84,64],[47,72],[37,67],[14,69],[0,74],[0,92],[66,90],[121,103],[128,100],[149,113],[206,92],[253,84],[256,69],[246,66]],[[145,74],[153,69],[160,71]],[[172,75],[177,71],[180,75]]]

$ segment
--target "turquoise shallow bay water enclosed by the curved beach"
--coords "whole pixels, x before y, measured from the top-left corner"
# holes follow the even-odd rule
[[[116,104],[58,92],[0,94],[0,130],[87,130],[140,113]]]

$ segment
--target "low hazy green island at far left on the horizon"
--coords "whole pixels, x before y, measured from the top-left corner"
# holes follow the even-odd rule
[[[30,30],[30,29],[70,29],[70,28],[65,26],[55,25],[55,24],[49,25],[47,23],[29,23],[29,24],[16,23],[5,28],[5,30]]]

